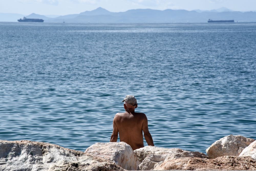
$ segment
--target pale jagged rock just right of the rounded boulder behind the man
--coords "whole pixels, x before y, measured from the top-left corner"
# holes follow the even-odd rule
[[[134,150],[141,164],[140,170],[150,170],[154,166],[165,160],[180,158],[180,157],[199,157],[208,158],[204,153],[190,152],[179,148],[161,148],[154,146],[146,146]]]

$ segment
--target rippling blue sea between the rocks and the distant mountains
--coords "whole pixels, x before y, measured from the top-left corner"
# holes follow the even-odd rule
[[[127,94],[155,146],[256,139],[256,23],[0,23],[0,140],[85,151]]]

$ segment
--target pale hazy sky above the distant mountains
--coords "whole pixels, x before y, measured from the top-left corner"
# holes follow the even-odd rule
[[[256,10],[256,0],[0,0],[0,13],[29,15],[78,14],[102,7],[111,12],[129,9],[202,9],[226,7],[237,11]]]

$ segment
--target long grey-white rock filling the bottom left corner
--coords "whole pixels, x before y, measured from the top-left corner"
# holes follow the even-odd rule
[[[100,157],[33,141],[0,140],[0,170],[123,170]]]

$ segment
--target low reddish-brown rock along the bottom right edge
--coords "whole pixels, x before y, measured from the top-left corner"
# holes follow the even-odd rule
[[[256,160],[249,156],[185,157],[160,162],[154,170],[256,170]]]

